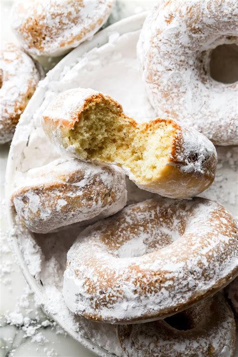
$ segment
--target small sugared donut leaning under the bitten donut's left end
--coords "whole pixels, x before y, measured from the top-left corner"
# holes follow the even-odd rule
[[[114,214],[127,203],[125,175],[105,165],[57,159],[31,169],[12,194],[21,222],[33,232],[47,233],[94,217]]]

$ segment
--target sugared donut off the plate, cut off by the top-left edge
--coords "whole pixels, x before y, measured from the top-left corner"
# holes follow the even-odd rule
[[[12,28],[32,55],[59,56],[89,39],[106,22],[114,0],[18,0]]]

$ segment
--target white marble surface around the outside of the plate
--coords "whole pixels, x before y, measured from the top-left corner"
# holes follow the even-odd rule
[[[106,25],[148,10],[154,0],[117,1]],[[10,29],[12,1],[0,0],[1,47],[5,41],[16,42]],[[40,59],[45,69],[61,58]],[[11,250],[5,216],[4,183],[9,144],[0,147],[0,357],[89,357],[86,350],[48,320],[34,299]]]

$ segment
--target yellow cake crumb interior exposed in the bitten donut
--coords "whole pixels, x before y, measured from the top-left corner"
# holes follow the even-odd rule
[[[169,121],[138,124],[113,102],[100,98],[80,114],[68,144],[82,159],[116,163],[147,183],[157,180],[168,162],[174,131]]]

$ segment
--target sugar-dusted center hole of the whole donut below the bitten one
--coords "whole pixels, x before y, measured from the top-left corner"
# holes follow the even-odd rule
[[[134,207],[130,213],[118,215],[105,224],[101,241],[115,258],[135,258],[158,252],[178,240],[184,233],[186,213],[182,203],[169,210],[166,204],[158,208],[157,201]],[[181,213],[182,211],[182,213]],[[172,222],[176,222],[173,224]]]

